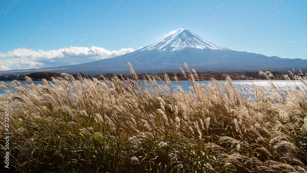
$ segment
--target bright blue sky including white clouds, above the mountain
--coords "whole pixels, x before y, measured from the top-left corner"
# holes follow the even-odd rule
[[[237,51],[307,59],[306,6],[306,0],[2,0],[0,70],[52,67],[66,53],[71,58],[61,65],[112,58],[181,28],[228,49],[239,43]]]

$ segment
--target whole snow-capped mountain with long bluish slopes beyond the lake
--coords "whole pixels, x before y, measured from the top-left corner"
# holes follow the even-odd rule
[[[130,62],[136,73],[179,71],[184,62],[196,71],[259,71],[307,69],[307,60],[268,57],[262,54],[239,52],[217,46],[189,30],[177,30],[134,52],[115,58],[94,62],[27,70],[64,73],[122,73],[130,72]],[[10,70],[11,73],[25,73],[25,70]],[[0,71],[2,73],[2,71]],[[3,73],[2,73],[3,74]]]

